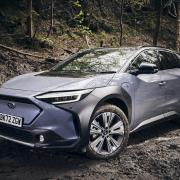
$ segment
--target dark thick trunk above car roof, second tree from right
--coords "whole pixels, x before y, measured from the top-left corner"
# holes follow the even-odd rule
[[[157,1],[157,18],[156,18],[156,27],[154,30],[154,37],[153,37],[153,45],[157,46],[158,38],[159,38],[159,31],[161,26],[161,12],[162,12],[162,0]]]

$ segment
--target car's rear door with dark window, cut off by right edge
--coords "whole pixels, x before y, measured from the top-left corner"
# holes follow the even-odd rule
[[[180,59],[169,51],[158,51],[161,78],[165,84],[164,114],[166,117],[180,114]]]

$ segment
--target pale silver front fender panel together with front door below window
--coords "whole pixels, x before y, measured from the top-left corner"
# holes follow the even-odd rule
[[[130,130],[164,118],[165,90],[161,86],[162,72],[155,74],[116,74],[111,85],[120,86],[131,99]]]

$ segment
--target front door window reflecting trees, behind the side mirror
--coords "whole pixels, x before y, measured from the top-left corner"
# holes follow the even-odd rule
[[[141,54],[135,59],[135,61],[132,62],[130,69],[131,70],[138,69],[142,62],[152,63],[155,64],[157,67],[159,67],[159,61],[156,51],[148,50],[141,52]]]

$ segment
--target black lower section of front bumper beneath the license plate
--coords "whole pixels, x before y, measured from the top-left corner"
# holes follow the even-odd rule
[[[40,142],[40,136],[44,137],[44,142]],[[33,130],[17,129],[7,125],[0,125],[0,138],[29,146],[31,148],[46,149],[71,149],[78,143],[78,139],[62,139],[56,133],[50,130]]]

